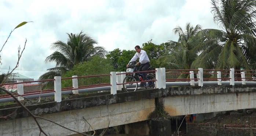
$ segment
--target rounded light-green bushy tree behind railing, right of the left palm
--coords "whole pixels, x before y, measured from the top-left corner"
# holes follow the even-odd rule
[[[90,61],[84,61],[73,67],[72,70],[66,72],[62,75],[63,78],[76,76],[89,76],[89,75],[102,75],[110,74],[114,71],[113,66],[109,59],[102,58],[100,56],[94,56]],[[110,83],[110,76],[98,76],[91,78],[79,78],[78,86],[100,84],[100,83]],[[62,80],[62,87],[72,87],[72,80]]]

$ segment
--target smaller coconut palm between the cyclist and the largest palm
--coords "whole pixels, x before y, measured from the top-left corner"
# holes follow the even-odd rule
[[[169,54],[158,59],[160,66],[167,69],[191,69],[197,53],[192,52],[195,45],[190,41],[200,30],[202,29],[199,24],[193,27],[190,23],[186,24],[185,31],[180,26],[173,29],[174,33],[179,35],[178,42],[169,41]],[[182,74],[179,78],[186,78],[186,76]]]

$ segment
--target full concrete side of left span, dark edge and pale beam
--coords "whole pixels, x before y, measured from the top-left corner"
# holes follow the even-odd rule
[[[33,114],[52,120],[78,132],[91,131],[89,124],[96,130],[110,126],[149,120],[154,111],[154,98],[161,97],[158,90],[120,93],[89,98],[65,100],[26,106]],[[14,112],[17,108],[1,109],[1,116]],[[89,122],[89,124],[85,121]],[[7,120],[7,121],[4,121]],[[74,134],[58,125],[38,119],[45,132],[52,136]],[[7,119],[0,121],[0,135],[39,135],[36,122],[21,107]]]

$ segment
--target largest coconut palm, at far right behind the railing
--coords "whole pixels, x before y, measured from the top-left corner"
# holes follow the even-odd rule
[[[249,69],[256,51],[256,1],[212,0],[213,20],[222,30],[204,29],[197,34],[200,55],[192,67]]]

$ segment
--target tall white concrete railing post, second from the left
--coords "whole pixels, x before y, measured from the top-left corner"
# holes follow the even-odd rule
[[[54,101],[61,102],[61,76],[54,76]]]

